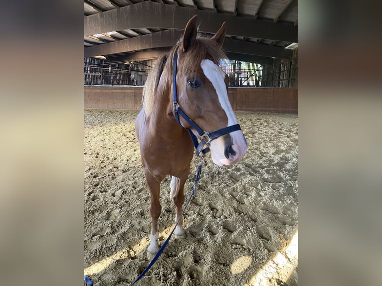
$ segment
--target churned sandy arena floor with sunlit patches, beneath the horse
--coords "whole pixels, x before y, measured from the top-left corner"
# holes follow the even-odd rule
[[[84,112],[84,275],[95,286],[129,285],[149,264],[150,196],[134,133],[137,115]],[[187,238],[173,236],[137,285],[298,285],[291,266],[297,249],[290,254],[285,248],[298,231],[298,116],[236,115],[248,152],[219,170],[206,156],[184,216]],[[196,164],[194,159],[186,199]],[[170,181],[168,176],[161,184],[160,246],[174,226]],[[289,259],[275,261],[286,253]],[[290,265],[282,270],[280,261]]]

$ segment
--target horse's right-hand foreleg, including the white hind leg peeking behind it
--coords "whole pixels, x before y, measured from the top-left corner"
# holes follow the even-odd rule
[[[185,201],[184,188],[185,188],[186,180],[189,176],[189,172],[190,170],[182,173],[180,177],[173,176],[171,179],[170,196],[173,196],[175,206],[177,207],[177,215],[175,217],[175,222],[179,220],[183,211],[183,203]],[[183,218],[181,218],[181,220],[179,221],[179,224],[175,228],[174,233],[176,237],[178,238],[186,238],[186,232],[185,232],[185,229],[183,228]]]

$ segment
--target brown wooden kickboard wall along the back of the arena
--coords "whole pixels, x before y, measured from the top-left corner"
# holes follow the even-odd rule
[[[140,110],[143,87],[84,86],[84,108]],[[298,88],[229,88],[234,111],[298,113]]]

